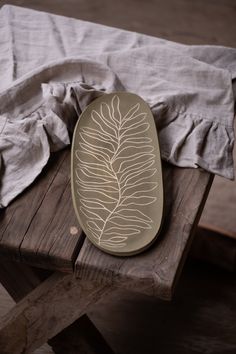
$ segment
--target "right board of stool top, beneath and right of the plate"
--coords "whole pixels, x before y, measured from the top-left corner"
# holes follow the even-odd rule
[[[101,252],[86,239],[76,261],[78,277],[171,299],[213,178],[168,164],[163,173],[166,222],[152,248],[122,258]]]

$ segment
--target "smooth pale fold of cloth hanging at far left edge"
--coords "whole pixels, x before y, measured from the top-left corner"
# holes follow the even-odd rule
[[[28,187],[48,162],[48,137],[38,118],[39,113],[35,112],[14,124],[7,120],[0,135],[0,208]]]

